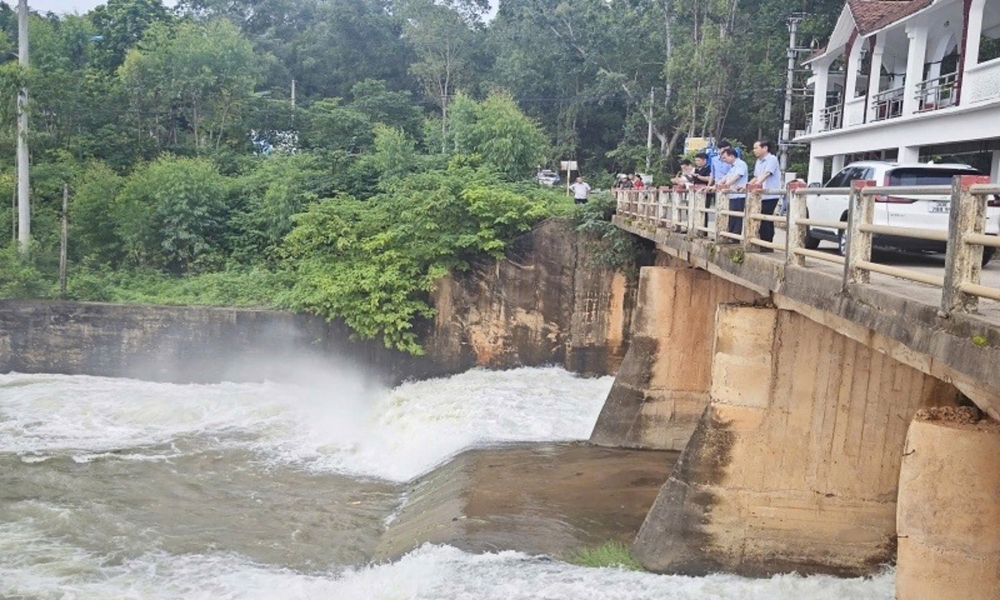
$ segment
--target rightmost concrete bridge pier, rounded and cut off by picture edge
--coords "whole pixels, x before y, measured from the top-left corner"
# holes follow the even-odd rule
[[[918,416],[899,480],[898,600],[1000,600],[1000,427]]]

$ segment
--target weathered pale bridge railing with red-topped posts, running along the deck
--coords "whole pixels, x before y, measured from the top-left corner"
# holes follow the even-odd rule
[[[744,209],[730,210],[729,199],[745,193]],[[843,289],[871,285],[871,273],[880,273],[940,288],[940,313],[975,312],[980,298],[1000,301],[1000,288],[982,285],[984,248],[1000,248],[1000,237],[986,235],[986,208],[1000,196],[1000,185],[984,176],[956,176],[950,186],[879,187],[874,181],[855,181],[850,188],[806,188],[769,190],[751,186],[746,190],[718,190],[715,204],[708,205],[713,192],[704,186],[675,186],[650,190],[618,190],[618,213],[647,228],[667,230],[689,239],[715,244],[739,244],[745,252],[784,253],[787,264],[806,267],[806,259],[843,266]],[[947,231],[894,227],[874,223],[877,199],[888,195],[947,196]],[[810,218],[806,200],[810,196],[847,195],[850,198],[846,221]],[[787,203],[784,216],[763,211],[764,199],[779,197]],[[780,202],[779,200],[779,202]],[[713,222],[714,217],[714,222]],[[742,219],[742,227],[730,228],[730,219]],[[761,225],[784,224],[785,242],[775,243],[761,236]],[[809,227],[839,231],[844,243],[840,254],[806,248]],[[732,229],[733,231],[730,231]],[[874,235],[941,242],[946,245],[943,275],[876,263],[872,260]]]

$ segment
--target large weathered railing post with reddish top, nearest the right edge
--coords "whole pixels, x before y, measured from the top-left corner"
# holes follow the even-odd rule
[[[988,184],[985,175],[956,175],[951,184],[951,211],[948,219],[948,250],[944,261],[944,290],[941,312],[976,312],[979,298],[962,291],[966,283],[978,284],[982,271],[983,247],[966,243],[969,234],[983,233],[986,225],[986,196],[969,187]]]

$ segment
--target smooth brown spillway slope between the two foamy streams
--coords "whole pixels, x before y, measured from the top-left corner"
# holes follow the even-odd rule
[[[608,540],[631,544],[677,456],[587,444],[464,452],[409,484],[375,559],[428,542],[552,555]]]

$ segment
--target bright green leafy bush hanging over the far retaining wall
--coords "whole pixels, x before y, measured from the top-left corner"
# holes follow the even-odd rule
[[[420,354],[413,325],[433,314],[427,297],[435,280],[484,252],[501,256],[558,202],[566,200],[458,163],[404,177],[368,201],[324,200],[285,240],[295,274],[290,304]]]

